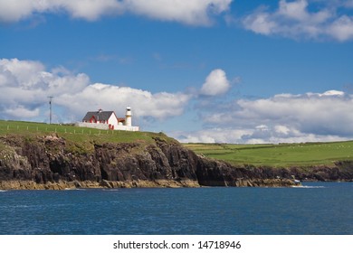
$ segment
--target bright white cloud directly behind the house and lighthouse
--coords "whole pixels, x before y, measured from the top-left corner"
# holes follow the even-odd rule
[[[142,89],[95,83],[80,92],[62,94],[56,103],[70,109],[80,119],[87,110],[98,108],[124,115],[127,106],[133,108],[135,116],[164,119],[181,115],[189,99],[190,96],[183,93],[152,94]]]

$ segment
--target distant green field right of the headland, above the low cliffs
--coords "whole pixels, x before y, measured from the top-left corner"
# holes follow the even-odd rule
[[[281,145],[186,144],[196,154],[234,165],[282,166],[332,165],[353,160],[353,141]]]

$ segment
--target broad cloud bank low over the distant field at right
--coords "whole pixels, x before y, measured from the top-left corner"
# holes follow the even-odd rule
[[[284,143],[353,136],[353,96],[339,90],[239,99],[202,111],[205,129],[171,133],[182,142]]]

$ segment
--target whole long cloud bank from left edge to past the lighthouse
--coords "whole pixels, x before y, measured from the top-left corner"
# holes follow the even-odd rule
[[[191,98],[184,93],[151,93],[148,90],[91,83],[84,74],[56,68],[45,70],[39,61],[0,60],[0,112],[3,118],[38,120],[46,118],[48,96],[60,107],[62,121],[80,121],[88,110],[116,110],[123,115],[131,106],[138,117],[175,117]],[[60,116],[58,115],[60,114]]]

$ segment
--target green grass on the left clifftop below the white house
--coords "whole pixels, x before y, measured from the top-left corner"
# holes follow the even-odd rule
[[[0,136],[21,136],[30,141],[37,136],[52,134],[64,138],[69,148],[79,153],[90,152],[93,143],[138,142],[148,145],[155,143],[154,137],[165,139],[168,142],[174,141],[162,133],[99,130],[79,126],[0,120]]]

